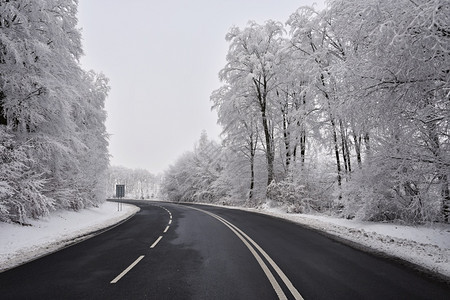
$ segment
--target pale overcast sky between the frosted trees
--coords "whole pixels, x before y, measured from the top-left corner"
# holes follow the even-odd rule
[[[285,22],[323,0],[79,0],[85,69],[110,79],[111,164],[164,171],[204,129],[219,140],[209,97],[220,87],[231,26]]]

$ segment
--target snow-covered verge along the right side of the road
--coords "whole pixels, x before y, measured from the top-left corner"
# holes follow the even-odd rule
[[[328,216],[292,214],[285,209],[246,209],[290,220],[338,236],[354,245],[400,258],[450,280],[450,224],[404,226]]]

